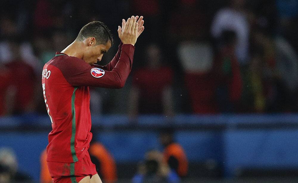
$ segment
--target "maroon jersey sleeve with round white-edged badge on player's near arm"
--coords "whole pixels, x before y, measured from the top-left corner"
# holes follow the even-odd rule
[[[131,44],[123,44],[119,60],[111,71],[90,66],[76,57],[67,58],[60,71],[72,86],[122,88],[131,71],[134,49]],[[109,67],[112,67],[113,63]]]

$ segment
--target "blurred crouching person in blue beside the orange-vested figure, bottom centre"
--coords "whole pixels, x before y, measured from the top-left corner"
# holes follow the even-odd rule
[[[179,176],[163,161],[162,153],[149,151],[145,162],[139,165],[139,172],[133,177],[133,183],[178,183]]]

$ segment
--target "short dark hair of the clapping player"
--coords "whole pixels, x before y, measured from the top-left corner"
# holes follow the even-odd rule
[[[97,45],[106,44],[108,41],[111,41],[111,45],[114,43],[111,30],[100,21],[93,21],[83,26],[76,40],[83,41],[88,37],[95,37]]]

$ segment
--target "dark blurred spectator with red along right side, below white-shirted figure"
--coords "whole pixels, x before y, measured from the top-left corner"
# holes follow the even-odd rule
[[[219,112],[237,112],[240,102],[242,78],[235,48],[235,32],[222,32],[219,53],[214,66]]]

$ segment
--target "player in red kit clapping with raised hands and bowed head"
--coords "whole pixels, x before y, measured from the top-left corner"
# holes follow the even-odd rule
[[[52,123],[47,164],[56,183],[102,183],[88,153],[92,138],[89,86],[122,88],[131,71],[134,44],[144,31],[143,17],[131,16],[118,26],[117,54],[100,61],[113,44],[108,27],[99,21],[83,26],[73,43],[44,65],[42,88]]]

